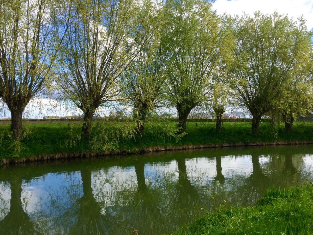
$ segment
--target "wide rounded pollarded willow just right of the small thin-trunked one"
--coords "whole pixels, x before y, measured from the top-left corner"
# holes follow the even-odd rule
[[[228,79],[239,103],[253,115],[253,132],[259,132],[262,115],[280,103],[295,64],[303,63],[311,46],[304,27],[302,19],[297,23],[278,13],[235,19],[236,49]]]

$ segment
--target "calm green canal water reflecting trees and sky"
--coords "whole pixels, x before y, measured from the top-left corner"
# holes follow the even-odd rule
[[[221,204],[313,181],[313,146],[59,160],[0,168],[0,234],[164,234]]]

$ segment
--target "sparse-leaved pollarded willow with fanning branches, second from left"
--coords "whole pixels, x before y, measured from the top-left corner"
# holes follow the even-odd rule
[[[86,137],[95,110],[116,99],[119,78],[138,54],[135,42],[150,36],[139,33],[149,10],[132,0],[74,0],[69,6],[58,85],[83,111]]]

